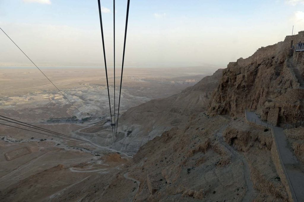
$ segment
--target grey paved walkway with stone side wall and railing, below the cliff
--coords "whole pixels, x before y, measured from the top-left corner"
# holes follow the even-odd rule
[[[261,118],[257,116],[254,112],[246,112],[247,120],[258,125],[265,127],[270,127],[269,124],[261,121]],[[271,126],[274,131],[275,139],[278,144],[279,153],[284,164],[285,170],[287,172],[286,176],[289,177],[292,188],[295,192],[297,200],[304,201],[304,172],[301,169],[301,164],[293,154],[293,152],[288,147],[287,137],[283,132],[283,128]]]

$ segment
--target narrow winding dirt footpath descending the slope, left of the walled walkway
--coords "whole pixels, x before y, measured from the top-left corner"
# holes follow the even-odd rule
[[[235,157],[237,157],[238,159],[240,159],[240,161],[242,161],[244,163],[244,177],[246,180],[246,185],[247,185],[247,191],[245,196],[243,197],[243,202],[251,202],[254,199],[254,188],[253,188],[253,183],[251,181],[250,178],[250,168],[249,165],[247,163],[247,161],[245,160],[245,158],[239,154],[236,150],[234,150],[232,147],[230,147],[230,145],[228,145],[224,140],[223,140],[223,132],[226,130],[226,128],[228,126],[231,126],[232,123],[230,122],[229,124],[226,124],[224,126],[222,126],[217,132],[216,132],[216,136],[219,138],[219,141],[227,148],[229,149],[229,151],[232,153],[232,155],[234,155]]]

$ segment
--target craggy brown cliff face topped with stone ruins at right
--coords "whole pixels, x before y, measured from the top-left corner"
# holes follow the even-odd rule
[[[303,101],[299,96],[295,95],[292,102],[278,98],[299,88],[286,60],[290,58],[289,61],[302,72],[304,60],[299,56],[302,53],[294,52],[291,48],[301,40],[304,41],[304,31],[299,35],[287,36],[275,45],[259,48],[246,59],[230,62],[210,101],[209,113],[234,116],[244,113],[247,108],[256,110],[268,120],[268,114],[275,111],[275,120],[278,121],[274,124],[303,118],[303,113],[301,115],[295,111],[295,108],[303,111]]]

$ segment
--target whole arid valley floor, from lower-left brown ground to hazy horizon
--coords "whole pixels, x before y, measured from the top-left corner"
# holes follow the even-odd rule
[[[76,116],[81,119],[83,117],[36,68],[1,69],[0,114],[48,130],[95,141],[98,144],[67,141],[1,125],[0,195],[5,194],[3,190],[6,187],[25,188],[21,185],[24,180],[34,179],[34,176],[40,175],[40,172],[45,170],[60,170],[61,166],[69,168],[68,173],[64,174],[70,176],[66,180],[55,180],[53,175],[45,176],[45,184],[37,183],[39,188],[36,187],[37,191],[43,189],[43,192],[18,194],[19,197],[14,197],[13,201],[23,201],[25,197],[28,201],[57,201],[57,196],[63,193],[67,186],[77,184],[96,173],[104,175],[103,183],[109,184],[110,176],[118,172],[140,146],[136,145],[131,151],[121,152],[115,145],[111,145],[112,131],[109,123],[105,123],[107,117],[109,118],[109,104],[103,69],[77,67],[42,68],[42,70],[86,117],[92,117],[91,123],[48,122],[47,120],[51,118]],[[126,68],[123,77],[121,114],[151,99],[176,94],[204,76],[211,75],[213,71],[214,69],[208,70],[206,67],[175,68],[174,71],[171,68]],[[116,74],[120,75],[120,72]],[[116,107],[119,80],[120,77],[117,76]],[[110,72],[109,84],[113,107],[114,85],[113,74]],[[6,121],[0,121],[7,124]],[[94,127],[90,127],[95,123],[97,124]],[[115,156],[116,152],[121,157]],[[92,164],[87,167],[90,162]],[[58,168],[52,168],[58,165]],[[59,184],[56,184],[56,181]],[[54,184],[51,185],[53,188],[49,186],[50,184]],[[16,189],[21,191],[17,187]],[[50,196],[46,195],[46,192]],[[14,194],[9,195],[14,196]],[[8,200],[8,198],[1,199],[1,201]]]

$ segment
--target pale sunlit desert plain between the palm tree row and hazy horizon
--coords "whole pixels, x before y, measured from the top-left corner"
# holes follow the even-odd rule
[[[99,68],[42,68],[67,98],[85,116],[109,115],[105,72]],[[40,71],[1,69],[0,112],[11,117],[40,122],[52,117],[81,115],[65,100]],[[116,72],[120,75],[120,72]],[[126,68],[123,77],[121,112],[155,98],[168,97],[198,82],[210,70],[204,68]],[[120,77],[116,77],[119,87]],[[111,104],[114,106],[114,78],[109,72]],[[116,88],[118,101],[119,88]],[[116,103],[117,104],[117,103]],[[113,110],[114,111],[114,110]]]

